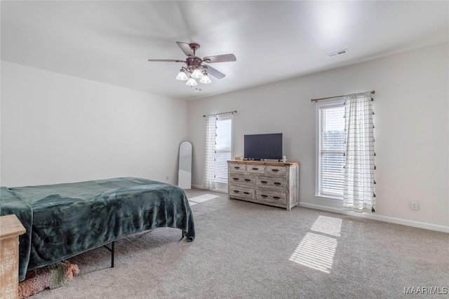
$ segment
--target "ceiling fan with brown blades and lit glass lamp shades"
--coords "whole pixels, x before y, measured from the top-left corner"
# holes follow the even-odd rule
[[[215,56],[206,56],[203,59],[196,56],[196,50],[200,48],[198,43],[183,43],[182,41],[177,41],[177,46],[179,46],[182,52],[187,55],[186,60],[148,60],[149,62],[184,62],[187,66],[181,67],[179,74],[177,74],[177,80],[187,81],[185,84],[188,86],[196,86],[195,79],[200,79],[200,83],[208,84],[210,78],[208,74],[214,76],[217,79],[225,78],[225,74],[220,71],[217,71],[213,67],[208,65],[209,63],[215,62],[232,62],[236,61],[236,57],[234,54],[225,54],[225,55],[215,55]],[[206,62],[208,64],[203,64]]]

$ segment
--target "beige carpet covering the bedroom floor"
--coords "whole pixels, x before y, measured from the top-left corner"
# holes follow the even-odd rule
[[[443,232],[187,195],[194,242],[171,228],[120,239],[114,268],[107,249],[83,253],[78,277],[32,298],[422,298],[404,288],[449,286]]]

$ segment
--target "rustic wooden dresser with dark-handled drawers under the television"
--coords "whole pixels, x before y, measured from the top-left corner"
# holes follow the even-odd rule
[[[227,161],[228,197],[288,211],[299,204],[298,163],[268,161]]]

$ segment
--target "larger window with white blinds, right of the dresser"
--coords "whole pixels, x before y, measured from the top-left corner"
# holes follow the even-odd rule
[[[342,199],[344,189],[343,102],[317,105],[317,190],[316,195]]]

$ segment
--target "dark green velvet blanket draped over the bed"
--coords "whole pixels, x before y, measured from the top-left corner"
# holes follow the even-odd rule
[[[20,236],[19,279],[113,242],[119,237],[169,227],[195,238],[184,190],[140,178],[118,178],[46,186],[0,188],[0,215],[15,214]]]

